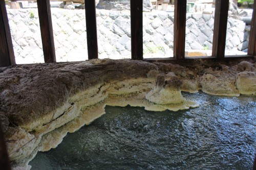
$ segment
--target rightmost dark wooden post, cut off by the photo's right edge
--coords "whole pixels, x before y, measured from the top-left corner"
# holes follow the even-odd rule
[[[253,12],[251,18],[251,29],[248,43],[248,55],[256,56],[256,2],[253,4]]]

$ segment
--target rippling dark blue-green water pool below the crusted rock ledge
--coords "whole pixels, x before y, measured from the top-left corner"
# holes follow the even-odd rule
[[[109,107],[91,125],[38,153],[32,169],[251,169],[256,99],[182,93],[178,112]]]

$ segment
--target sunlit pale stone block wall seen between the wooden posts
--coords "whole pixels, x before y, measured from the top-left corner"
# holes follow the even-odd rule
[[[44,62],[37,9],[7,11],[16,62]],[[51,11],[57,62],[88,59],[84,10]],[[96,11],[99,58],[131,58],[130,11]],[[173,12],[143,13],[144,58],[173,56],[173,21]],[[227,27],[226,50],[245,50],[249,37],[245,23],[228,18]],[[187,14],[186,51],[210,54],[213,28],[212,14]]]

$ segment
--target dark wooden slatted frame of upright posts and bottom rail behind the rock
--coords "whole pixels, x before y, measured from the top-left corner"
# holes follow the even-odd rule
[[[12,0],[13,1],[13,0]],[[22,0],[21,0],[22,1]],[[97,25],[95,1],[85,0],[86,2],[86,25],[87,25],[87,44],[88,59],[98,58]],[[143,0],[131,0],[131,47],[133,60],[145,61],[173,61],[185,58],[185,29],[186,29],[186,0],[175,1],[174,16],[174,57],[143,59]],[[0,23],[4,29],[0,31],[0,38],[5,43],[0,45],[0,66],[15,64],[11,33],[8,23],[7,11],[4,1],[1,1]],[[40,31],[42,46],[46,63],[56,62],[54,38],[52,30],[50,0],[37,0],[38,15],[40,21]],[[253,5],[253,15],[251,21],[250,38],[248,43],[247,55],[225,56],[225,42],[227,29],[228,1],[216,0],[215,8],[214,39],[212,43],[212,56],[217,60],[225,58],[255,57],[256,56],[256,3]],[[207,58],[207,57],[189,57]],[[209,57],[208,57],[209,58]]]

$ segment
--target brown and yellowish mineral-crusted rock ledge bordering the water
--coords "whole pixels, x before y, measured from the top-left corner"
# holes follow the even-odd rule
[[[105,105],[176,111],[197,107],[181,91],[255,96],[255,80],[254,60],[229,66],[135,60],[17,65],[0,74],[0,119],[18,169],[104,114]]]

